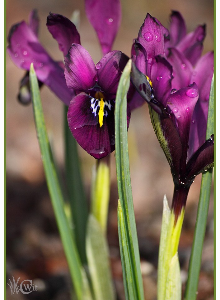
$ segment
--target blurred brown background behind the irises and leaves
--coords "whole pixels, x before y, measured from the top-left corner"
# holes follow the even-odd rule
[[[204,53],[213,49],[213,1],[209,0],[122,0],[122,24],[113,49],[130,55],[144,18],[149,12],[169,27],[171,10],[185,18],[188,31],[198,24],[207,25]],[[28,14],[37,8],[40,17],[39,39],[55,60],[62,60],[57,42],[46,28],[49,12],[68,18],[80,10],[82,45],[94,62],[101,58],[96,34],[84,12],[84,1],[76,0],[7,0],[7,33],[12,24],[28,21]],[[7,278],[29,278],[39,291],[26,295],[18,293],[8,299],[70,299],[68,269],[63,255],[50,204],[33,122],[31,105],[24,107],[16,96],[24,71],[18,69],[7,55]],[[41,90],[46,125],[60,167],[63,166],[62,119],[63,104],[47,87]],[[161,226],[162,199],[166,194],[171,203],[173,183],[169,165],[157,142],[150,123],[147,105],[132,112],[129,127],[129,158],[137,220],[140,253],[144,274],[145,298],[156,299],[156,268]],[[82,172],[89,197],[91,167],[95,159],[79,148]],[[180,239],[180,264],[183,282],[193,239],[201,177],[191,187],[187,200],[185,221]],[[111,200],[109,214],[109,243],[118,299],[124,299],[117,238],[117,186],[114,154],[111,155]],[[15,278],[15,279],[16,279]],[[213,194],[208,215],[198,300],[213,299]]]

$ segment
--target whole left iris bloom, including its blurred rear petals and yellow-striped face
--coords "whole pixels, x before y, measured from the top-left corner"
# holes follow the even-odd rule
[[[102,158],[115,149],[114,106],[121,75],[121,52],[109,51],[120,25],[121,7],[119,0],[105,1],[105,6],[100,0],[86,0],[85,7],[105,55],[96,66],[80,45],[79,33],[70,20],[52,13],[47,18],[48,30],[59,49],[64,57],[68,54],[65,59],[67,84],[63,63],[52,60],[40,45],[36,12],[30,14],[29,25],[23,21],[12,27],[8,53],[23,69],[29,70],[33,62],[40,85],[48,85],[65,104],[70,104],[68,123],[77,142],[93,157]],[[27,73],[21,84],[23,102],[30,101],[28,83]],[[128,125],[129,119],[128,108]]]

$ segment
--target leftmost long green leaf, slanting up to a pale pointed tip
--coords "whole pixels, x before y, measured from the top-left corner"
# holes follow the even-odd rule
[[[64,212],[64,200],[61,192],[60,184],[56,174],[56,168],[54,166],[53,157],[51,154],[50,144],[45,128],[44,114],[40,99],[40,91],[33,68],[33,64],[30,66],[30,88],[31,98],[33,102],[33,110],[35,117],[35,126],[40,145],[40,151],[42,161],[44,165],[44,172],[46,181],[54,208],[54,214],[57,220],[57,225],[60,233],[60,237],[63,243],[64,252],[66,254],[70,274],[72,277],[74,289],[77,295],[77,299],[85,299],[83,292],[85,286],[83,284],[83,269],[77,252],[76,244],[73,240],[72,232],[69,228],[68,220]]]

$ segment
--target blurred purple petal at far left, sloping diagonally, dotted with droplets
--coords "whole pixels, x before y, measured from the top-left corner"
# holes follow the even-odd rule
[[[48,85],[68,105],[74,92],[66,85],[64,70],[52,60],[24,21],[11,28],[8,42],[7,51],[12,61],[25,70],[29,70],[33,62],[38,80]]]

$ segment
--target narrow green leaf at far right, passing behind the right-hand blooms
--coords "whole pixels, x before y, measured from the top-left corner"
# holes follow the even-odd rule
[[[210,138],[214,131],[214,79],[212,79],[209,105],[206,139]],[[212,183],[212,169],[202,174],[199,205],[194,232],[194,240],[189,264],[189,273],[186,283],[185,300],[195,300],[199,282],[199,272],[202,258],[202,250],[208,216],[209,198]]]

